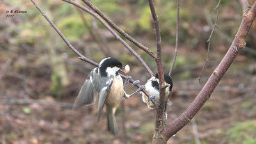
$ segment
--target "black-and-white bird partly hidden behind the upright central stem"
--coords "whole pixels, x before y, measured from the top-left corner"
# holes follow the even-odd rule
[[[166,97],[165,102],[168,102],[168,97],[171,93],[171,90],[173,88],[173,80],[168,74],[163,74],[164,76],[164,84],[169,84],[170,86],[166,87]],[[145,83],[145,90],[150,94],[150,97],[148,98],[145,93],[142,94],[142,100],[145,104],[147,104],[147,107],[149,109],[154,109],[155,106],[151,102],[152,99],[154,99],[157,103],[160,101],[159,97],[159,77],[158,74],[155,74],[153,77],[147,80],[147,83]]]

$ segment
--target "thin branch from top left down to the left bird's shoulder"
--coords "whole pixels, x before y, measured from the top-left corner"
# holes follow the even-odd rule
[[[94,61],[91,61],[89,58],[86,58],[85,56],[83,56],[79,51],[77,51],[77,49],[75,49],[70,42],[67,40],[67,38],[65,38],[65,36],[61,33],[61,31],[55,26],[55,24],[53,22],[51,22],[51,20],[49,19],[49,17],[47,17],[47,15],[45,15],[45,12],[38,6],[38,3],[35,3],[34,0],[31,0],[31,2],[35,5],[36,8],[38,8],[38,10],[40,11],[40,13],[42,14],[42,16],[45,17],[45,19],[47,19],[47,21],[51,24],[51,26],[55,29],[55,31],[58,33],[58,35],[61,36],[61,38],[64,40],[64,42],[67,44],[67,46],[74,51],[75,54],[77,54],[77,56],[79,56],[79,58],[83,61],[86,61],[92,65],[97,66],[98,64]]]

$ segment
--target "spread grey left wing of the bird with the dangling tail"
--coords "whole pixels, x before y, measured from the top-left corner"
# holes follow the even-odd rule
[[[94,104],[95,100],[93,91],[93,83],[91,83],[90,79],[86,79],[76,101],[74,102],[73,110],[77,110],[83,105]]]

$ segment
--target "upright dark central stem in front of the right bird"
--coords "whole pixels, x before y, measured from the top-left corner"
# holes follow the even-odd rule
[[[154,21],[154,29],[156,30],[156,41],[157,41],[157,58],[155,59],[157,63],[157,72],[159,74],[159,95],[160,95],[160,102],[159,102],[159,109],[156,109],[157,116],[156,116],[156,127],[155,131],[159,133],[161,130],[161,127],[163,126],[163,111],[166,107],[165,102],[165,92],[166,90],[163,88],[163,67],[161,63],[161,34],[160,34],[160,24],[159,24],[159,18],[157,16],[156,10],[154,8],[154,3],[152,0],[148,0],[148,3],[150,5],[150,10],[152,14],[152,18]],[[154,141],[154,138],[153,138]]]

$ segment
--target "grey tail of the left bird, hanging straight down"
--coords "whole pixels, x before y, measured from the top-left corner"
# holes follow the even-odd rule
[[[109,106],[106,106],[106,117],[108,120],[108,130],[113,134],[114,136],[118,134],[118,124],[115,120],[115,109],[112,109]]]

